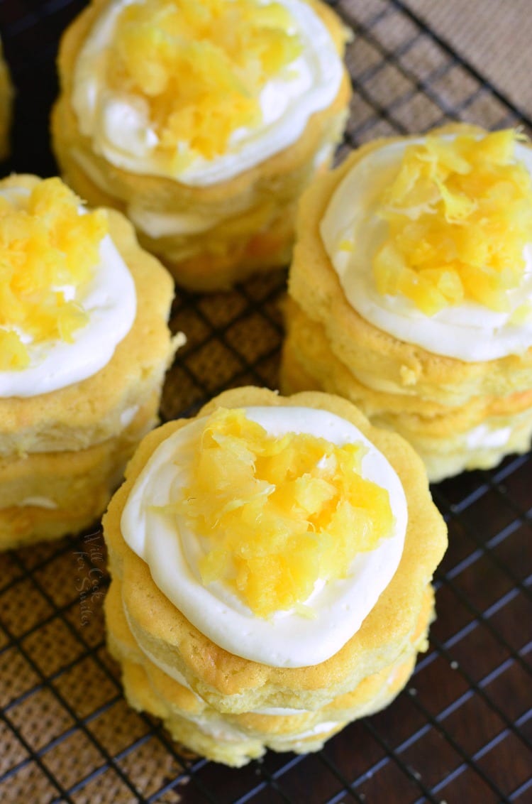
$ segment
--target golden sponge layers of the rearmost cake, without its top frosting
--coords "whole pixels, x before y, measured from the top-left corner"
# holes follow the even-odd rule
[[[79,54],[108,5],[108,0],[91,3],[63,36],[59,52],[62,92],[52,135],[67,183],[93,206],[116,207],[128,215],[142,244],[193,289],[225,288],[250,273],[286,265],[298,196],[315,171],[330,162],[341,137],[351,94],[347,72],[334,100],[311,114],[296,142],[233,178],[194,187],[136,174],[95,153],[71,104]],[[320,2],[309,5],[341,55],[345,31],[339,19]]]

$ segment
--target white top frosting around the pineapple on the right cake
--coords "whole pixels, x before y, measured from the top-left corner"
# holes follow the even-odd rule
[[[392,142],[363,157],[336,188],[323,215],[321,237],[347,301],[380,330],[435,355],[473,363],[522,354],[532,346],[532,320],[515,324],[512,316],[532,301],[532,237],[524,250],[522,282],[507,292],[507,312],[468,301],[429,317],[407,297],[377,291],[372,260],[388,225],[376,214],[377,200],[395,178],[404,149],[415,142],[422,141]],[[517,144],[515,156],[532,174],[532,150]],[[341,248],[346,240],[353,244],[351,252]]]

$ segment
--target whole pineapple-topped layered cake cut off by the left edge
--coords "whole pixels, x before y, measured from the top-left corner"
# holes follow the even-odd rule
[[[116,211],[0,182],[0,549],[89,526],[156,424],[173,283]],[[136,303],[137,297],[142,305]]]

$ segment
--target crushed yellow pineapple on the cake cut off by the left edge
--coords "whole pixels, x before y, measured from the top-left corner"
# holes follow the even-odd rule
[[[59,178],[28,194],[6,188],[0,195],[1,371],[29,365],[28,343],[69,343],[87,322],[67,295],[91,278],[107,232],[104,213],[80,214],[79,199]]]

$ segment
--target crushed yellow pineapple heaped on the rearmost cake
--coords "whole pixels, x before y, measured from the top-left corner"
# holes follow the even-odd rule
[[[259,125],[259,95],[301,52],[290,13],[262,0],[146,0],[116,24],[108,84],[140,96],[173,170]]]

